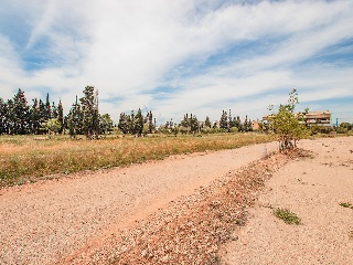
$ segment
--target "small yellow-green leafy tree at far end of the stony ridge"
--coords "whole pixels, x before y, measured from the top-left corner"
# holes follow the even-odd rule
[[[297,89],[292,89],[289,94],[288,103],[280,105],[277,113],[274,112],[268,116],[269,127],[279,135],[280,150],[295,148],[297,141],[308,135],[302,115],[295,114],[298,103]]]

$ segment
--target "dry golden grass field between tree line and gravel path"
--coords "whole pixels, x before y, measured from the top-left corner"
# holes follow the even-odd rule
[[[96,141],[68,137],[1,136],[0,187],[35,181],[53,173],[121,167],[170,155],[232,149],[270,141],[259,134],[203,137],[108,138]]]

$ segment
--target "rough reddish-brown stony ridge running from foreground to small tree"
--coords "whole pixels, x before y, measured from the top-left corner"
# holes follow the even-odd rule
[[[135,227],[118,231],[97,250],[69,257],[67,264],[217,264],[222,244],[237,240],[258,192],[297,150],[277,153],[228,171],[206,188],[169,203]]]

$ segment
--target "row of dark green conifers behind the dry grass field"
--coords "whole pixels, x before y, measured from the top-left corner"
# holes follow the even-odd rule
[[[85,135],[88,139],[111,132],[115,128],[121,134],[142,136],[152,132],[162,134],[196,134],[196,132],[235,132],[253,130],[252,121],[239,116],[232,117],[229,112],[222,112],[220,121],[211,121],[206,116],[199,121],[193,114],[185,114],[181,121],[172,119],[157,127],[157,120],[149,110],[146,115],[139,108],[136,113],[121,113],[119,121],[114,125],[109,114],[99,114],[98,91],[94,86],[86,86],[83,97],[76,96],[66,116],[63,105],[50,100],[49,93],[45,100],[34,98],[29,104],[24,92],[19,88],[10,99],[0,98],[0,135],[41,135],[69,134],[72,137]]]

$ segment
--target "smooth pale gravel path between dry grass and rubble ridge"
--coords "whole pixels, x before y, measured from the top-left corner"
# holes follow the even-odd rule
[[[0,264],[53,264],[258,160],[276,142],[0,190]]]

